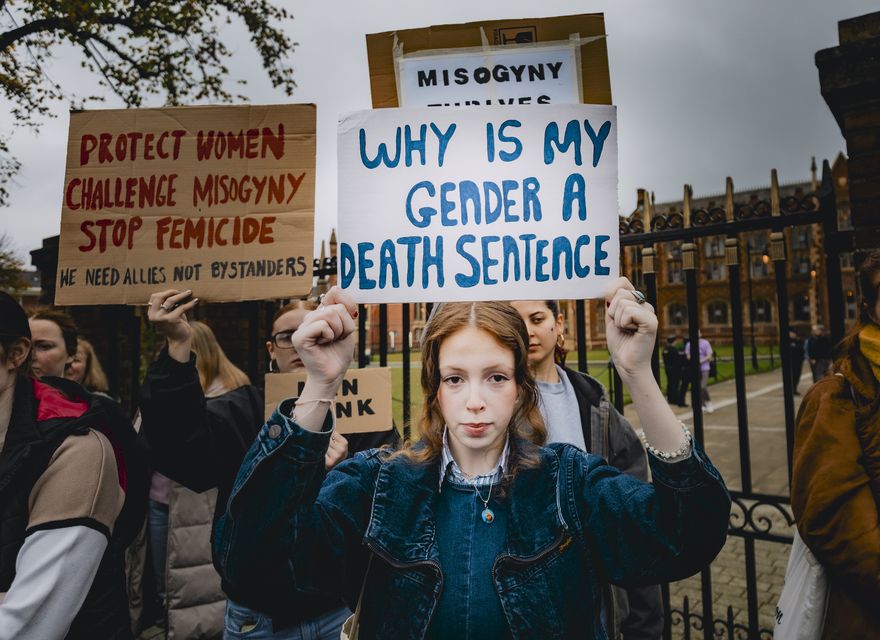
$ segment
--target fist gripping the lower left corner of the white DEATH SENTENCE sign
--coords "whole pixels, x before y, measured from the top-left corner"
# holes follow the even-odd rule
[[[331,288],[321,306],[306,315],[292,337],[308,372],[306,389],[318,387],[321,397],[335,395],[354,354],[356,317],[357,304],[338,287]]]

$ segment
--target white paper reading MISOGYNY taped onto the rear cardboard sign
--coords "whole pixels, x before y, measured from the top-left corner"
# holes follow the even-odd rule
[[[463,48],[397,58],[400,106],[580,103],[574,42]]]

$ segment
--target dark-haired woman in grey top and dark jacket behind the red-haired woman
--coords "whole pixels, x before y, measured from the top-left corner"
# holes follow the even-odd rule
[[[632,425],[609,402],[595,378],[565,366],[564,318],[556,300],[510,303],[529,333],[529,367],[540,396],[547,443],[567,442],[605,458],[639,480],[648,481],[645,448]],[[663,632],[659,586],[619,589],[606,594],[612,638],[656,639]]]

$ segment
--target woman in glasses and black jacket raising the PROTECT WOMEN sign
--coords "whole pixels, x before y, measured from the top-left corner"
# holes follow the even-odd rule
[[[141,389],[142,428],[151,449],[161,450],[159,459],[175,474],[167,474],[169,477],[196,490],[208,484],[217,487],[216,520],[225,509],[242,459],[263,425],[264,402],[257,389],[247,386],[246,405],[254,403],[258,409],[248,409],[243,415],[228,419],[206,411],[205,394],[192,354],[192,327],[186,319],[186,313],[198,303],[198,299],[190,299],[191,294],[191,291],[169,290],[150,298],[149,318],[166,336],[168,346],[150,367]],[[273,371],[288,373],[302,367],[290,343],[290,335],[314,306],[311,302],[295,301],[275,315],[272,335],[266,344]],[[348,439],[334,434],[325,456],[325,467],[329,470],[358,451],[383,444],[394,445],[398,441],[396,429],[353,434]],[[204,474],[205,470],[199,469],[193,458],[209,463],[212,467],[209,474]],[[247,634],[252,633],[260,638],[282,638],[295,635],[299,627],[304,635],[311,634],[307,637],[335,640],[350,613],[338,598],[320,594],[301,598],[296,606],[284,611],[266,611],[265,602],[247,590],[237,589],[225,581],[222,587],[228,598],[223,624],[229,637],[248,637]]]

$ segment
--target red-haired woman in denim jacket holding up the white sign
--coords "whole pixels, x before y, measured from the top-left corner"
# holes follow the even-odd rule
[[[447,303],[425,329],[420,440],[324,479],[356,305],[339,289],[293,343],[308,379],[239,470],[214,552],[224,577],[283,606],[335,592],[372,638],[606,638],[603,583],[699,571],[727,534],[718,472],[651,376],[657,318],[625,279],[609,349],[650,445],[655,484],[546,438],[528,335],[506,303]],[[360,598],[359,598],[360,594]]]

